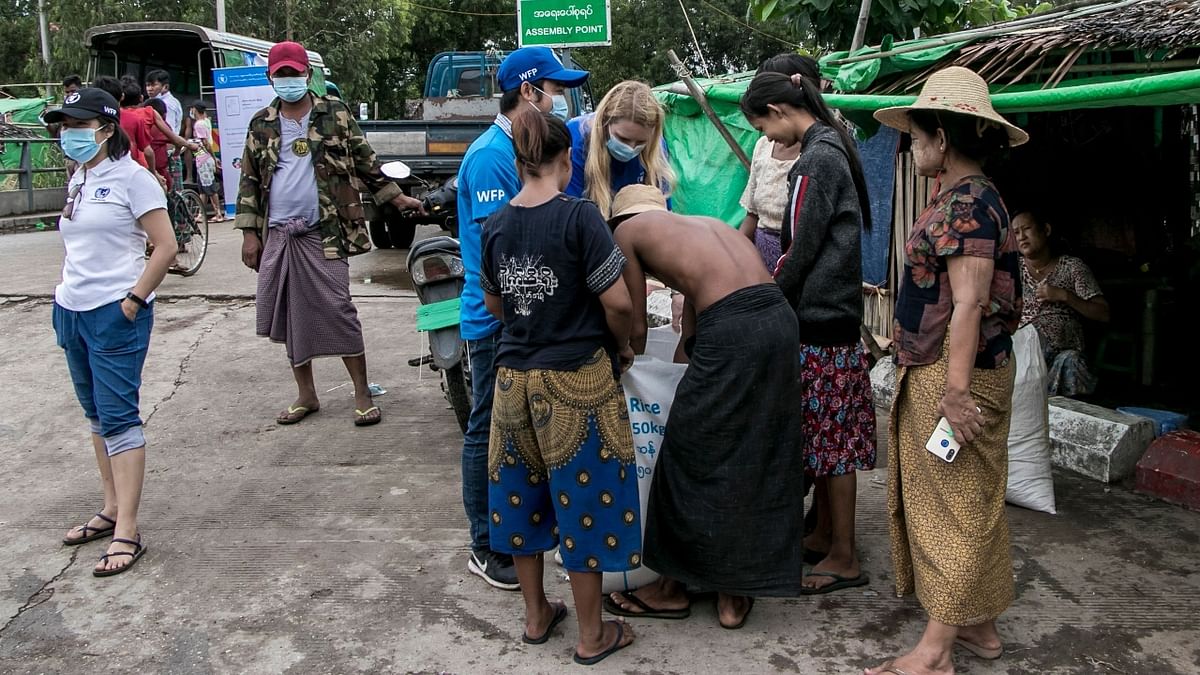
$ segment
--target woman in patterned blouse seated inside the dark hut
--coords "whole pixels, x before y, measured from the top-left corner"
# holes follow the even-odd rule
[[[1084,261],[1058,255],[1043,214],[1025,210],[1013,219],[1021,251],[1025,306],[1021,325],[1032,323],[1050,371],[1052,396],[1075,396],[1096,390],[1096,377],[1084,360],[1082,319],[1109,321],[1109,303]]]

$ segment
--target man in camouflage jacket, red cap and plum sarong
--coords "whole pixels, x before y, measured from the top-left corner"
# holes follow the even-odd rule
[[[312,359],[341,357],[354,382],[355,425],[376,424],[383,413],[371,400],[347,258],[371,249],[362,192],[401,210],[421,203],[383,175],[344,103],[308,91],[304,47],[276,44],[266,70],[277,97],[250,121],[234,227],[242,263],[259,273],[257,333],[287,346],[296,381],[296,401],[276,422],[317,412]]]

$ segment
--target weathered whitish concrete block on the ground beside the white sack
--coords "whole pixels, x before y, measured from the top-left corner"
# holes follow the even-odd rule
[[[1050,398],[1050,459],[1055,466],[1112,483],[1133,474],[1153,440],[1154,425],[1144,417]]]

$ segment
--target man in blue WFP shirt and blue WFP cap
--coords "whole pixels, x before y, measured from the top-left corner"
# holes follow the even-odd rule
[[[526,47],[509,54],[496,73],[503,91],[500,114],[470,144],[458,169],[458,237],[467,273],[460,330],[467,341],[474,394],[462,447],[462,503],[470,521],[472,546],[467,569],[506,591],[520,590],[512,556],[491,550],[487,530],[487,441],[500,323],[484,306],[484,289],[479,285],[484,221],[521,190],[509,115],[516,114],[522,106],[530,106],[565,120],[568,106],[563,92],[583,84],[587,78],[587,71],[563,67],[546,47]]]

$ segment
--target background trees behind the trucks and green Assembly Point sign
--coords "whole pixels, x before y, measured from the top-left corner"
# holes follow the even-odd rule
[[[947,0],[949,1],[949,0]],[[704,59],[697,56],[678,0],[612,0],[613,46],[572,52],[592,71],[592,90],[602,95],[622,79],[661,84],[676,79],[667,49],[703,74],[752,68],[766,56],[794,49],[802,32],[787,22],[748,28],[746,0],[684,0]],[[0,82],[55,82],[86,73],[83,44],[88,28],[134,20],[215,25],[212,0],[46,0],[52,24],[52,66],[38,54],[36,0],[0,7]],[[516,47],[514,0],[226,0],[230,32],[262,40],[289,35],[320,52],[330,79],[350,102],[378,102],[383,117],[420,96],[430,60],[445,50]],[[290,32],[289,32],[290,31]]]

